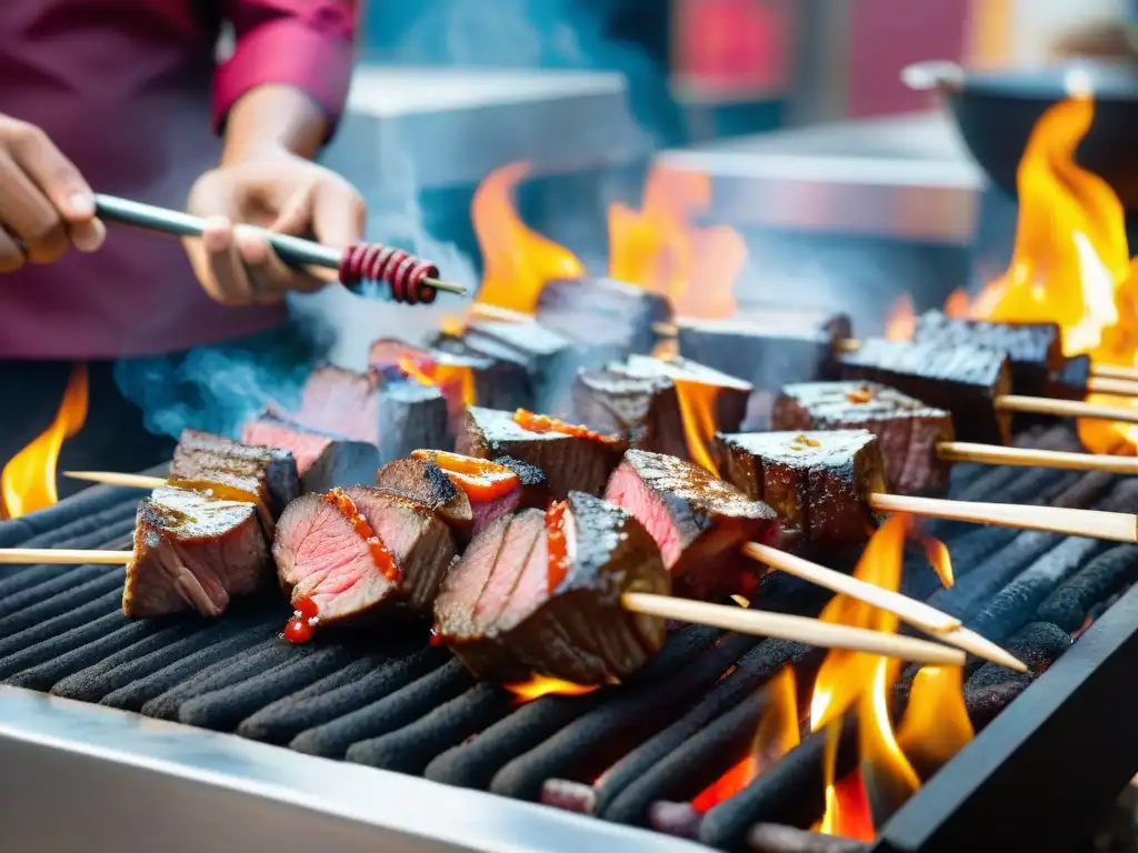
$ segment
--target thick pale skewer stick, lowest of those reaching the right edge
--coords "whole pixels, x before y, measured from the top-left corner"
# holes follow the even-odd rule
[[[869,495],[869,506],[879,513],[912,513],[930,519],[966,521],[973,524],[1040,530],[1047,533],[1085,536],[1118,543],[1138,543],[1138,515],[1131,513],[879,494]]]

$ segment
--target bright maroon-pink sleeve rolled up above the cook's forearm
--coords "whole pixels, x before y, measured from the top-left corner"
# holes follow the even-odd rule
[[[250,89],[296,86],[339,118],[352,81],[357,0],[225,0],[233,56],[214,77],[214,127]]]

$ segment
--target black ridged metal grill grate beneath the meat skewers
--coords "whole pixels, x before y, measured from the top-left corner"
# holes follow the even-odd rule
[[[1032,444],[1072,442],[1056,430]],[[962,466],[954,494],[1138,510],[1138,481],[1097,473]],[[0,545],[129,547],[137,500],[134,491],[91,489],[0,523]],[[1138,578],[1136,546],[955,523],[938,523],[933,532],[949,545],[957,585],[938,590],[932,572],[914,558],[906,591],[1006,643],[1033,672],[970,666],[966,701],[979,726]],[[297,647],[278,637],[287,616],[282,602],[244,603],[213,621],[132,622],[119,612],[122,581],[123,570],[107,566],[28,566],[0,575],[3,684],[556,804],[721,848],[743,845],[756,823],[809,826],[820,809],[819,743],[813,738],[706,814],[690,805],[745,753],[762,704],[758,688],[785,663],[817,663],[816,653],[795,644],[686,628],[619,688],[518,706],[497,687],[477,684],[445,649],[427,647],[420,628],[329,632]],[[775,574],[760,604],[817,612],[824,597]],[[906,688],[902,678],[898,690]]]

